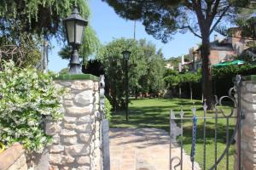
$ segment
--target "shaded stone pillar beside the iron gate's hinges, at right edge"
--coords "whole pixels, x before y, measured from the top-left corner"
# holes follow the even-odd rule
[[[241,169],[253,170],[256,169],[256,81],[251,76],[245,78],[247,81],[241,86],[241,111],[245,116],[241,121]],[[237,155],[235,169],[238,169]]]

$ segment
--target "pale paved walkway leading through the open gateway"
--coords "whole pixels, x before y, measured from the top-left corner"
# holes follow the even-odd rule
[[[166,131],[157,128],[110,128],[109,137],[111,170],[170,170],[169,135]],[[180,148],[172,146],[173,156],[180,157]],[[190,169],[189,156],[183,154],[183,170]],[[196,169],[200,168],[195,163]]]

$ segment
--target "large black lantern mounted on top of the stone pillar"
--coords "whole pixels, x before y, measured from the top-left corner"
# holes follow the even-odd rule
[[[67,32],[68,45],[73,48],[73,54],[69,62],[69,74],[80,74],[82,71],[78,49],[82,43],[84,27],[87,26],[88,21],[81,17],[77,6],[74,6],[73,13],[64,19],[63,23]]]

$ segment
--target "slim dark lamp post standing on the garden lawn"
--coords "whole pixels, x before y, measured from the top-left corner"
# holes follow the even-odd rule
[[[130,51],[123,51],[122,52],[123,57],[125,59],[125,116],[126,116],[126,121],[129,120],[128,117],[128,103],[129,103],[129,80],[128,80],[128,61],[130,58]]]

